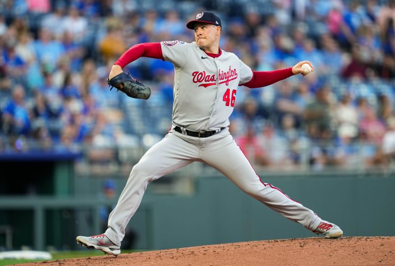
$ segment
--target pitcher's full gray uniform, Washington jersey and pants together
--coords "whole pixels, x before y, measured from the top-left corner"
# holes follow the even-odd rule
[[[195,42],[161,42],[162,57],[174,65],[173,127],[133,167],[129,179],[111,212],[106,236],[120,245],[127,223],[136,212],[148,184],[194,161],[207,163],[228,177],[238,188],[284,217],[315,230],[321,219],[276,187],[264,183],[241,152],[229,130],[229,116],[235,105],[237,87],[251,80],[253,73],[233,53],[223,50],[211,56]],[[177,132],[218,133],[199,138]]]

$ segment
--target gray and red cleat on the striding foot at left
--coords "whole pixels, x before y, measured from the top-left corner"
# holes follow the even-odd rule
[[[77,243],[89,249],[98,249],[104,253],[118,256],[120,254],[120,246],[115,245],[105,234],[92,236],[77,236]]]

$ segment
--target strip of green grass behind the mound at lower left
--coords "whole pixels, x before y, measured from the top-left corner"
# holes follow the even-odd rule
[[[141,250],[121,250],[121,253],[130,253],[130,252],[140,252]],[[85,258],[85,257],[95,257],[95,256],[104,256],[105,254],[99,250],[89,250],[89,251],[58,251],[51,252],[52,261],[54,260],[64,260],[64,259],[73,259],[73,258]],[[6,259],[0,260],[0,266],[11,265],[11,264],[21,264],[21,263],[30,263],[30,262],[42,262],[42,260],[15,260],[15,259]]]

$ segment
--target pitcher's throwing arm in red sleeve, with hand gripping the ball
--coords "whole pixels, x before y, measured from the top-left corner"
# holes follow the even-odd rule
[[[312,71],[314,70],[311,62],[301,61],[291,68],[279,69],[274,71],[253,71],[251,80],[241,85],[248,88],[260,88],[269,86],[276,83],[277,81],[283,80],[293,75],[302,74],[303,76],[305,76],[302,70],[302,65],[305,63],[309,64],[312,67]]]

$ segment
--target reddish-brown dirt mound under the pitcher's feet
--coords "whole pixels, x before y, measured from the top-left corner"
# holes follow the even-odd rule
[[[24,264],[37,266],[40,263]],[[70,265],[395,265],[395,237],[297,238],[57,260]]]

